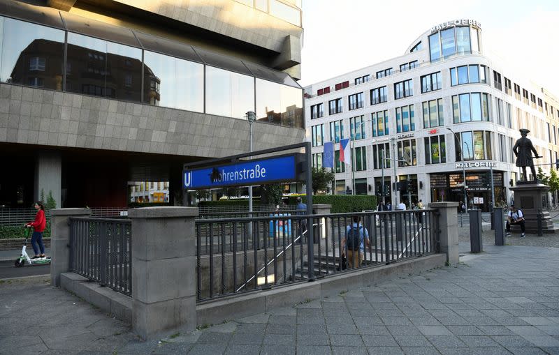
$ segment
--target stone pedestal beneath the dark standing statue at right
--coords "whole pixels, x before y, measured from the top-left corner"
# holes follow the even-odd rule
[[[559,229],[553,227],[553,222],[548,211],[543,210],[543,199],[549,191],[546,186],[539,181],[517,181],[516,186],[510,188],[514,192],[514,206],[521,209],[526,232],[537,234],[537,215],[542,213],[542,232],[555,233]],[[511,225],[511,230],[520,231],[519,225]]]

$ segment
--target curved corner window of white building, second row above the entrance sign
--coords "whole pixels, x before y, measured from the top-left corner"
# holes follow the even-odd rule
[[[488,95],[486,93],[462,93],[452,96],[454,123],[489,121]]]

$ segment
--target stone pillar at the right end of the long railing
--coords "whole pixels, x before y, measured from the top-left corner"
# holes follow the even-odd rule
[[[439,216],[440,248],[447,254],[450,265],[458,264],[458,202],[433,202],[430,209],[437,209]]]

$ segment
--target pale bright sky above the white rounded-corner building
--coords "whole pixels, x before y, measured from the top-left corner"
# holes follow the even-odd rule
[[[299,84],[307,86],[401,56],[433,25],[455,19],[481,22],[487,54],[497,54],[523,70],[523,77],[559,97],[556,0],[303,0]]]

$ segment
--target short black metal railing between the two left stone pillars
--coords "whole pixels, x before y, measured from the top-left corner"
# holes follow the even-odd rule
[[[131,296],[131,220],[70,218],[71,270]]]

